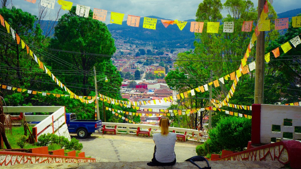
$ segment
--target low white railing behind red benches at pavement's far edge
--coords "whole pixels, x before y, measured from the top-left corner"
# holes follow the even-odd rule
[[[148,131],[149,128],[151,128],[151,136],[154,133],[160,133],[160,127],[149,125],[149,124],[128,124],[128,123],[107,123],[103,122],[102,125],[106,125],[107,127],[116,128],[117,133],[127,133],[127,134],[136,134],[137,128],[140,127],[142,131]],[[175,131],[177,134],[181,133],[184,134],[185,131],[187,132],[188,140],[190,141],[196,141],[196,142],[204,142],[208,139],[208,134],[206,131],[198,131],[193,129],[187,129],[187,128],[175,128],[175,127],[169,127],[169,131]],[[194,136],[192,136],[192,133],[194,133]]]

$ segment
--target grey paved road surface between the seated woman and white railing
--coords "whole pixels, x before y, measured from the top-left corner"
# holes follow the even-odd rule
[[[71,135],[76,137],[76,135]],[[78,139],[83,144],[85,156],[96,158],[96,162],[118,161],[151,161],[154,153],[153,137],[136,137],[132,134],[109,135],[94,133],[86,139]],[[177,162],[197,155],[195,152],[198,143],[186,141],[175,143]]]

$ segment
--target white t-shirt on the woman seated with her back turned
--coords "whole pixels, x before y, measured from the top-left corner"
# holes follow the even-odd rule
[[[161,163],[168,163],[175,160],[175,141],[177,141],[177,134],[168,133],[162,135],[155,133],[153,140],[156,144],[156,160]]]

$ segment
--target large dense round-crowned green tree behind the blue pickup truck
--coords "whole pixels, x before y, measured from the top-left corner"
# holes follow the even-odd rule
[[[73,70],[75,67],[82,70],[80,75],[65,75],[68,81],[81,84],[81,91],[84,96],[88,95],[89,82],[92,83],[93,76],[89,73],[97,64],[111,64],[110,57],[115,51],[114,39],[111,37],[107,26],[93,19],[93,12],[89,16],[80,17],[76,15],[76,6],[73,6],[69,13],[64,14],[59,19],[55,28],[54,38],[50,41],[50,47],[72,52],[56,51],[54,55],[61,60],[65,60],[70,65],[64,67],[66,70]],[[95,54],[102,54],[97,56]],[[48,60],[52,68],[61,68],[60,64]],[[74,66],[71,66],[74,65]],[[90,79],[89,79],[90,78]],[[62,80],[65,80],[62,79]],[[91,87],[93,89],[93,87]]]

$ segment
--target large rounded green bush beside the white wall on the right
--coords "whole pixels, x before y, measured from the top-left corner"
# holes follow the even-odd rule
[[[210,151],[243,151],[251,140],[251,119],[235,116],[221,118],[208,134],[211,141],[209,147],[214,148]]]

